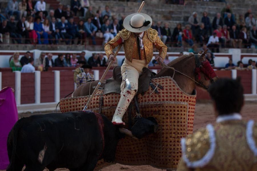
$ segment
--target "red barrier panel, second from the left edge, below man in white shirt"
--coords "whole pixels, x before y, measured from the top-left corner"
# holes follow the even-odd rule
[[[21,73],[21,104],[35,103],[35,74]]]

